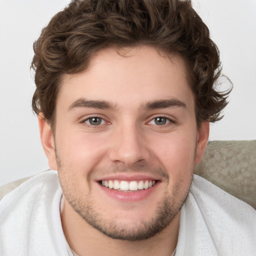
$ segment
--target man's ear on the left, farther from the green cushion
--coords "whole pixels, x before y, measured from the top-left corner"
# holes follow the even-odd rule
[[[37,118],[40,130],[41,143],[43,150],[48,158],[49,167],[53,170],[56,170],[57,163],[55,157],[55,145],[50,124],[47,123],[47,121],[45,120],[43,113],[39,113]]]

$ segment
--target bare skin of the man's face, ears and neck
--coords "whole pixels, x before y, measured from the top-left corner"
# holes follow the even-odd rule
[[[99,51],[87,70],[63,77],[54,135],[42,117],[41,141],[58,170],[70,247],[81,256],[170,255],[209,132],[208,122],[196,127],[181,58],[149,46]],[[98,125],[90,123],[95,117]],[[112,196],[98,182],[141,175],[157,180],[141,198],[134,197],[140,191]]]

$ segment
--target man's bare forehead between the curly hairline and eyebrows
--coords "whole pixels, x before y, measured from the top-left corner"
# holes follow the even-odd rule
[[[131,100],[134,105],[141,105],[165,98],[193,104],[183,60],[150,46],[100,50],[85,71],[65,75],[57,106],[81,97],[122,106],[128,106]]]

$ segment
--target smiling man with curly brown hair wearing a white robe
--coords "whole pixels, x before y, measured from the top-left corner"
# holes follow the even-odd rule
[[[57,172],[0,201],[1,255],[255,253],[255,211],[193,176],[228,93],[189,1],[71,1],[34,52]]]

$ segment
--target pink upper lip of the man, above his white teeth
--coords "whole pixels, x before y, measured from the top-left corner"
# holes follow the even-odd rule
[[[132,181],[132,180],[161,180],[161,177],[159,175],[150,175],[150,174],[143,174],[143,173],[116,173],[116,174],[109,174],[102,176],[101,178],[96,179],[96,181],[100,180],[126,180],[126,181]]]

